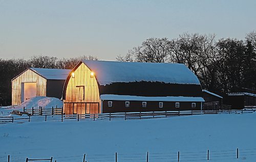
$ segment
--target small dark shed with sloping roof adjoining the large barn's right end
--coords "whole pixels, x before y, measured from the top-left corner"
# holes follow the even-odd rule
[[[220,95],[203,90],[203,98],[205,101],[203,104],[204,110],[219,110],[222,106],[223,97]]]

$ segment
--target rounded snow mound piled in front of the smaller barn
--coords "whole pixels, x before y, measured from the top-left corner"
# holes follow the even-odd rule
[[[39,106],[42,106],[42,108],[51,108],[53,107],[61,107],[63,106],[63,103],[60,99],[55,98],[55,97],[42,97],[42,96],[37,96],[33,97],[22,104],[16,106],[16,109],[22,109],[23,107],[29,109],[29,108],[39,108]]]

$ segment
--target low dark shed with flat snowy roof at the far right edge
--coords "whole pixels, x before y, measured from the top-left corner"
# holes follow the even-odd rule
[[[231,105],[231,109],[241,110],[256,107],[256,94],[252,93],[227,93],[223,102]]]

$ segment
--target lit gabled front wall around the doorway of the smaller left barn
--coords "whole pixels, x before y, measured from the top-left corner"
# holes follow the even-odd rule
[[[21,103],[22,83],[36,82],[36,96],[46,96],[47,80],[28,69],[12,80],[12,105]]]

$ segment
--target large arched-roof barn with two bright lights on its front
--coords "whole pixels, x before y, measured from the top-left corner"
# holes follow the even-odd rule
[[[63,88],[66,114],[201,110],[202,88],[184,64],[83,60]]]

